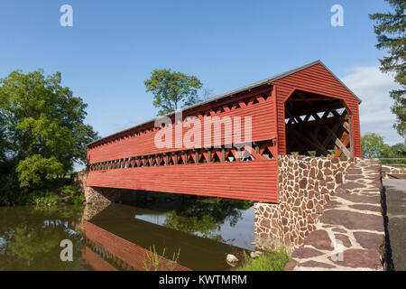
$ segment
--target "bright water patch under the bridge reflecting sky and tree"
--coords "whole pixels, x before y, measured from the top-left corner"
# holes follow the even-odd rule
[[[254,206],[247,200],[207,199],[175,203],[135,215],[137,219],[203,238],[254,249]],[[165,210],[166,209],[166,210]]]

